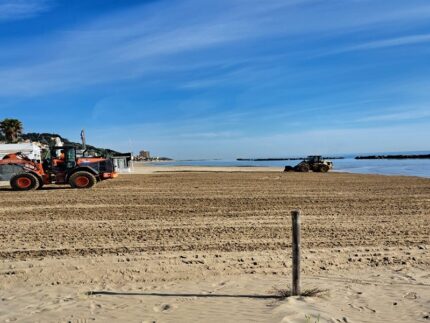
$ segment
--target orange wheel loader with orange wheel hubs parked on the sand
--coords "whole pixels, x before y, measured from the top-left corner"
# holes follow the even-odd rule
[[[16,191],[30,191],[45,184],[90,188],[99,181],[117,177],[117,173],[111,159],[77,157],[75,147],[61,146],[51,148],[42,162],[19,152],[6,155],[0,160],[0,177],[9,179]]]

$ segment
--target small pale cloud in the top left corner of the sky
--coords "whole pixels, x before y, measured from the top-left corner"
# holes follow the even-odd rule
[[[2,0],[0,22],[19,20],[39,15],[51,8],[52,0]]]

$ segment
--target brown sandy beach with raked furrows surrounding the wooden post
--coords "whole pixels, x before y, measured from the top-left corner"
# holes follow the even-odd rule
[[[430,180],[140,166],[0,191],[2,322],[429,322]],[[290,211],[303,288],[291,281]]]

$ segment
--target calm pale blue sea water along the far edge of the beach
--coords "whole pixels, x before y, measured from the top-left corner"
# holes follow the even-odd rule
[[[297,160],[285,161],[237,161],[237,160],[192,160],[172,161],[156,163],[164,166],[237,166],[237,167],[283,167],[296,165]],[[334,171],[382,174],[382,175],[406,175],[430,178],[430,159],[334,159]]]

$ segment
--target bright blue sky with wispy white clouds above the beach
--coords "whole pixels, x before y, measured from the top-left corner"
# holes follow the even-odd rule
[[[174,158],[428,150],[428,0],[0,0],[0,118]]]

